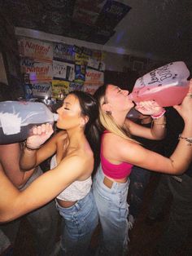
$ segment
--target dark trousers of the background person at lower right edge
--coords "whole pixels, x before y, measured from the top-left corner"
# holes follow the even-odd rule
[[[154,219],[162,213],[168,196],[172,196],[168,223],[157,246],[162,256],[178,255],[177,250],[192,231],[192,178],[183,174],[181,179],[179,182],[172,175],[162,174],[151,201],[149,217]]]

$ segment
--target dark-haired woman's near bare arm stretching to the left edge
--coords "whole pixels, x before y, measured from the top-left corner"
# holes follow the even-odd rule
[[[68,157],[55,169],[35,179],[22,192],[19,192],[0,171],[0,222],[18,218],[45,205],[92,168],[93,161],[85,161],[84,157],[78,156]]]

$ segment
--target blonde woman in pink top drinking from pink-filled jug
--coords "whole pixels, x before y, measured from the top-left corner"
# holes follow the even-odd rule
[[[190,91],[192,91],[192,84]],[[128,90],[118,86],[101,86],[95,92],[99,104],[99,121],[103,128],[101,165],[94,177],[93,192],[103,230],[103,245],[98,255],[127,255],[129,174],[132,166],[168,174],[180,174],[190,164],[192,157],[192,92],[180,106],[174,106],[185,121],[180,142],[170,158],[142,147],[131,135],[146,139],[164,137],[164,109],[154,101],[137,105],[142,114],[154,118],[150,128],[139,126],[126,119],[133,108]]]

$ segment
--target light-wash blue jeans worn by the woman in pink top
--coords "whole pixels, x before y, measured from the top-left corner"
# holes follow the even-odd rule
[[[111,188],[107,188],[103,179],[103,170],[99,166],[93,184],[94,199],[102,226],[102,241],[98,255],[127,255],[129,179],[126,183],[114,182]]]

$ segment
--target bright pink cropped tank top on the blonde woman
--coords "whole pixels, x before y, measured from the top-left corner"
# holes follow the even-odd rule
[[[103,136],[107,132],[108,131],[105,130],[103,132]],[[107,177],[110,177],[112,179],[126,178],[127,176],[130,175],[133,165],[131,165],[127,162],[122,162],[119,165],[116,165],[116,164],[111,164],[110,161],[107,161],[107,159],[105,157],[103,157],[103,136],[102,136],[102,145],[101,145],[101,154],[100,154],[103,173]]]

